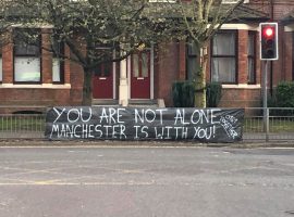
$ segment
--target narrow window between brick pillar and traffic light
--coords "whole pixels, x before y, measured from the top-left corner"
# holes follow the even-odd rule
[[[248,84],[255,84],[256,82],[256,71],[255,71],[255,51],[256,51],[256,34],[255,31],[248,31],[248,47],[247,47],[247,53],[248,53]]]

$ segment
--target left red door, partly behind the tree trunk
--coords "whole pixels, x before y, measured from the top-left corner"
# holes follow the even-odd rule
[[[99,65],[93,76],[93,98],[113,99],[113,71],[112,63]]]

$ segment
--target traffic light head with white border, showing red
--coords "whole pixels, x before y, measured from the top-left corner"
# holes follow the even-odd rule
[[[278,23],[260,23],[260,60],[278,60]]]

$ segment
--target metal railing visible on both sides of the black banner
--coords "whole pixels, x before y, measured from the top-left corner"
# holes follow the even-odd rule
[[[294,107],[245,108],[244,141],[294,141]],[[265,125],[268,123],[268,126]],[[0,114],[0,139],[45,139],[46,114]]]

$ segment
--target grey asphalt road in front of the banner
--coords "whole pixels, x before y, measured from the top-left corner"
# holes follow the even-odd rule
[[[294,150],[0,148],[0,217],[294,216]]]

